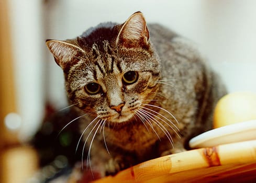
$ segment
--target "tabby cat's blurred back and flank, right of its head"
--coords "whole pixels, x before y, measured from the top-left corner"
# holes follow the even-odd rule
[[[189,134],[189,131],[198,134],[210,129],[216,102],[226,94],[219,77],[210,69],[194,42],[159,24],[148,27],[151,44],[160,58],[162,81],[165,81],[161,92],[168,100],[162,105],[173,109],[180,122],[187,123],[189,128],[183,129],[183,134]],[[200,129],[192,130],[194,127]]]

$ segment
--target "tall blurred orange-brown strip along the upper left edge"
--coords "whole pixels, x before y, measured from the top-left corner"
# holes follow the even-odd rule
[[[7,0],[0,0],[0,151],[6,145],[17,143],[16,136],[7,131],[3,122],[8,113],[17,112],[7,5]]]

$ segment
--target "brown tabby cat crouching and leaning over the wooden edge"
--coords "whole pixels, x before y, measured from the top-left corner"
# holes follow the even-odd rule
[[[212,128],[216,102],[226,94],[190,41],[147,25],[141,12],[46,44],[79,114],[71,121],[79,121],[77,145],[83,139],[87,166],[101,176],[186,151],[188,140]]]

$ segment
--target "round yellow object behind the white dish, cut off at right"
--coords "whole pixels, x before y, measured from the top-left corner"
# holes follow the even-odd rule
[[[231,93],[222,97],[214,111],[214,128],[256,119],[256,94]]]

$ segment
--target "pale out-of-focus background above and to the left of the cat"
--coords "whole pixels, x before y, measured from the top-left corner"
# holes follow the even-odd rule
[[[28,142],[47,105],[67,106],[46,39],[75,38],[140,10],[148,22],[191,39],[229,92],[256,92],[255,7],[253,0],[0,0],[0,152]]]

